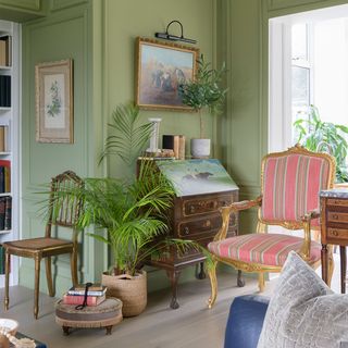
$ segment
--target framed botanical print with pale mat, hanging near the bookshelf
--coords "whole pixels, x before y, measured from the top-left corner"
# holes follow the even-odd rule
[[[74,142],[73,61],[35,66],[36,141]]]

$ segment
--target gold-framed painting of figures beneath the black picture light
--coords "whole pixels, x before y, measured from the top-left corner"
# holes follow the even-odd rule
[[[199,49],[138,37],[136,103],[140,109],[192,111],[178,92],[181,82],[195,77]]]

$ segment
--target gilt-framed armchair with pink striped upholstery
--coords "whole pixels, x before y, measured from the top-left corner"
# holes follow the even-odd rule
[[[243,286],[240,271],[259,273],[260,291],[264,289],[264,273],[281,272],[291,250],[314,269],[320,265],[321,244],[311,240],[311,229],[320,229],[319,192],[333,187],[335,166],[335,160],[330,154],[311,152],[298,145],[262,159],[261,196],[222,208],[222,228],[208,245],[214,258],[213,268],[209,270],[209,308],[214,304],[217,295],[217,261],[238,270],[238,286]],[[226,238],[231,212],[252,207],[258,207],[257,233]],[[304,236],[268,234],[266,225],[303,229]],[[332,276],[333,260],[332,257],[330,259]]]

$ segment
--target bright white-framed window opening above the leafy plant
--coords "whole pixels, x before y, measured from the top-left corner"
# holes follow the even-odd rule
[[[294,122],[314,104],[348,125],[348,5],[270,20],[269,151],[293,146]]]

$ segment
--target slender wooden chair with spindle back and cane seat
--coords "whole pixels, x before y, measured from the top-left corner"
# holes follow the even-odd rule
[[[51,181],[51,191],[49,198],[49,214],[46,225],[45,237],[30,238],[22,240],[7,241],[3,244],[5,250],[5,291],[4,308],[9,309],[9,273],[11,254],[32,258],[35,260],[35,298],[34,298],[34,316],[38,318],[39,312],[39,282],[40,282],[40,261],[46,262],[46,277],[49,295],[54,296],[51,257],[70,253],[71,254],[71,272],[73,284],[77,282],[77,229],[75,223],[79,216],[82,202],[77,199],[71,199],[67,191],[69,188],[76,185],[83,185],[83,181],[72,171],[66,171]],[[62,192],[61,195],[59,192]],[[72,238],[70,240],[52,237],[52,226],[62,226],[72,228]],[[64,228],[65,229],[65,228]]]

